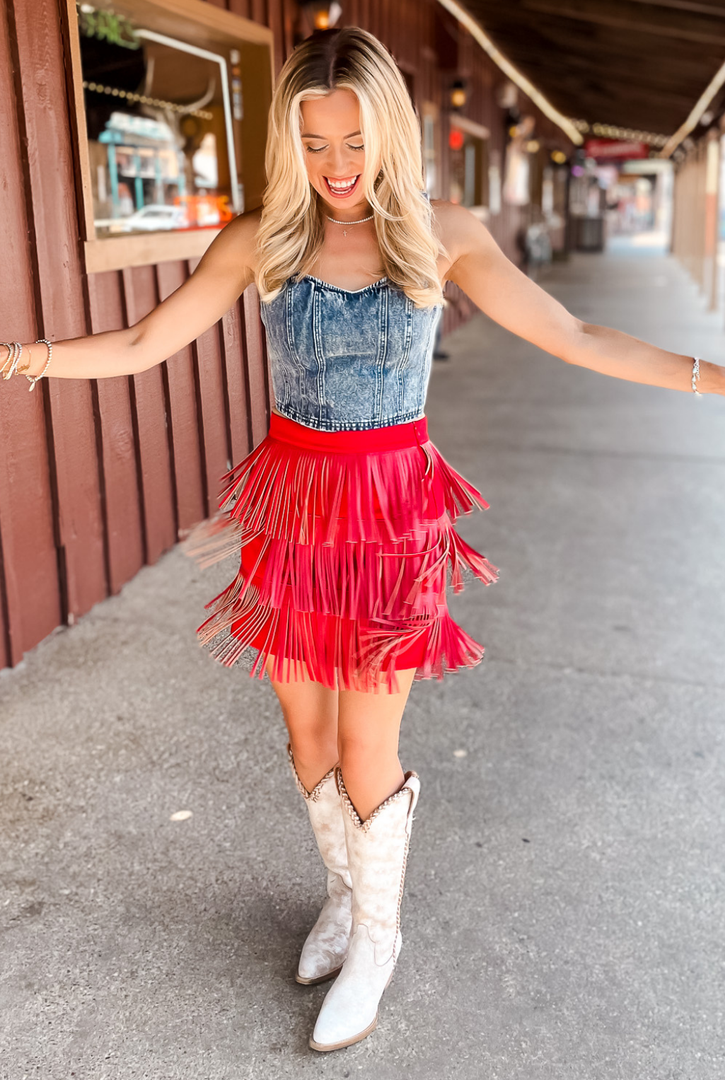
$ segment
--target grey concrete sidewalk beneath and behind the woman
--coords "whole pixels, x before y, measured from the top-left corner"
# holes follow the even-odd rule
[[[673,261],[578,256],[589,322],[725,362]],[[307,1039],[323,894],[268,684],[199,648],[230,579],[175,550],[0,676],[6,1080],[722,1080],[725,401],[563,364],[479,315],[431,437],[501,570],[486,645],[414,687],[405,945],[378,1030]],[[190,810],[186,821],[171,821]]]

